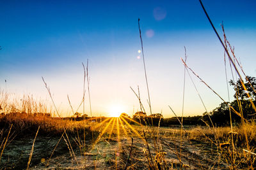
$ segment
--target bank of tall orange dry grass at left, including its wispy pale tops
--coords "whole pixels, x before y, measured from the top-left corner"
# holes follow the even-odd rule
[[[52,117],[51,106],[48,101],[36,100],[33,95],[22,97],[4,91],[0,92],[0,129],[8,131],[13,125],[15,134],[36,132],[39,134],[62,134],[64,129],[72,134],[88,130],[89,125],[63,118]]]

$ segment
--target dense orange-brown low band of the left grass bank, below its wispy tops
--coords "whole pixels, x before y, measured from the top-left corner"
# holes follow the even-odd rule
[[[8,113],[0,116],[0,128],[9,129],[13,125],[15,133],[19,135],[26,134],[26,132],[36,132],[40,126],[40,134],[61,134],[63,127],[67,132],[72,134],[82,131],[85,126],[88,130],[89,125],[84,125],[82,122],[74,120],[64,120],[63,118],[53,118],[48,115],[35,115],[28,113]],[[88,130],[89,131],[89,130]]]

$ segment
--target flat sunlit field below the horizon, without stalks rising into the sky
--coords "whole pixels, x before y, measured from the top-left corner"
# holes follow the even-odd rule
[[[232,154],[236,168],[248,167],[252,155],[243,150],[244,131],[239,126],[233,129],[233,150],[230,127],[185,127],[180,143],[180,127],[129,125],[122,118],[100,123],[8,113],[0,121],[0,164],[7,169],[26,169],[30,155],[29,169],[230,169]],[[253,129],[255,124],[246,124],[255,148]]]

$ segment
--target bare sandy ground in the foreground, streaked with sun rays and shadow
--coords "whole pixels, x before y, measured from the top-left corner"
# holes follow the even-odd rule
[[[148,169],[147,145],[141,138],[133,138],[131,150],[131,138],[100,139],[99,143],[92,147],[91,142],[86,142],[84,148],[77,145],[76,138],[70,137],[72,150],[68,148],[64,139],[60,140],[54,154],[54,147],[60,137],[36,138],[33,157],[29,165],[30,169]],[[188,141],[183,139],[180,152],[180,140],[178,138],[160,138],[159,145],[154,145],[152,138],[147,139],[153,162],[156,157],[156,148],[162,148],[164,164],[170,169],[180,169],[182,165],[188,165],[188,169],[227,169],[227,164],[218,162],[216,148],[211,143]],[[33,144],[33,138],[20,138],[13,140],[6,146],[0,163],[1,169],[26,169],[29,153]],[[131,150],[131,157],[127,157]],[[74,156],[76,155],[76,156]],[[183,167],[185,169],[185,167]]]

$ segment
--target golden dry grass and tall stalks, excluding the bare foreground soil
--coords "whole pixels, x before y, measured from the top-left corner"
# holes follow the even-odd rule
[[[200,1],[200,3],[202,4],[201,1]],[[202,5],[202,8],[204,9],[203,5]],[[205,9],[204,9],[204,11],[205,11]],[[205,11],[205,14],[207,15],[206,11]],[[211,20],[208,15],[207,15],[207,18],[209,19],[209,22],[211,23]],[[212,25],[212,23],[211,23],[211,25]],[[150,92],[148,90],[147,72],[146,72],[146,67],[145,67],[145,57],[144,57],[144,52],[143,52],[143,41],[141,38],[140,19],[138,20],[138,26],[139,26],[139,31],[140,31],[140,41],[141,41],[141,51],[142,51],[142,55],[143,55],[145,81],[147,83],[148,106],[150,109],[150,114],[152,114],[151,103],[150,103]],[[214,28],[213,25],[212,25],[212,27],[213,27],[214,31],[216,32],[216,29]],[[217,34],[218,38],[220,39],[218,32],[216,32],[216,34]],[[221,39],[220,39],[220,41],[221,41]],[[225,39],[225,44],[226,43],[227,42]],[[236,69],[237,74],[239,75],[239,77],[242,80],[241,74],[239,73],[239,71],[236,67],[236,64],[235,64],[236,61],[233,61],[228,53],[227,44],[225,46],[222,41],[221,41],[221,44],[225,48],[228,58],[230,59],[234,68]],[[234,55],[234,53],[233,53],[233,55]],[[234,58],[236,58],[236,57],[234,56]],[[207,85],[207,83],[205,83],[204,80],[202,80],[190,67],[187,66],[186,59],[185,59],[185,61],[182,60],[182,62],[185,66],[184,67],[184,87],[185,87],[186,71],[190,70],[209,89],[211,89],[211,87],[209,87],[209,85]],[[84,65],[83,65],[83,67],[84,67]],[[242,67],[241,67],[241,69],[242,69]],[[243,71],[243,69],[242,69],[242,71]],[[89,99],[90,99],[90,89],[89,89],[89,80],[88,80],[88,63],[87,63],[86,70],[84,67],[84,86],[83,86],[84,89],[83,89],[83,100],[81,102],[81,104],[83,104],[83,113],[84,113],[84,95],[85,95],[85,78],[86,78],[86,76],[87,76],[87,82],[88,82],[88,94],[89,94]],[[44,78],[43,78],[43,81],[44,81]],[[45,83],[45,81],[44,81],[44,83]],[[243,85],[244,90],[247,90],[243,84],[243,81],[241,81],[241,83]],[[45,83],[45,87],[47,88],[49,95],[52,99],[51,92],[46,83]],[[220,99],[222,99],[224,101],[224,99],[218,93],[216,93],[213,89],[211,89],[211,90],[212,90],[212,92],[214,92],[214,94],[219,96]],[[134,92],[133,89],[132,89],[132,91]],[[134,92],[134,94],[136,94],[136,92]],[[138,89],[138,94],[136,94],[136,97],[138,97],[138,100],[140,102],[141,111],[145,111],[143,104],[141,103],[139,89]],[[248,97],[250,98],[249,95],[248,95]],[[200,97],[200,99],[201,99],[201,97]],[[69,99],[68,99],[68,101],[69,101]],[[250,101],[252,103],[253,108],[256,111],[253,101],[252,100],[250,100]],[[224,101],[224,102],[227,103],[226,101]],[[52,99],[52,103],[54,104],[53,99]],[[70,103],[70,101],[69,101],[69,103]],[[202,103],[203,103],[203,101],[202,101]],[[75,155],[74,150],[72,149],[72,145],[70,144],[70,141],[68,139],[68,134],[71,133],[71,134],[77,135],[77,138],[78,138],[77,143],[79,143],[78,145],[80,147],[81,142],[80,142],[79,134],[83,134],[84,129],[86,129],[87,134],[90,131],[90,129],[93,129],[93,130],[99,130],[100,134],[99,134],[99,136],[97,136],[95,141],[93,140],[92,148],[94,148],[95,144],[100,141],[100,139],[104,136],[104,134],[109,134],[108,135],[109,139],[111,138],[111,135],[116,136],[116,138],[118,139],[117,140],[118,148],[120,148],[119,147],[120,136],[131,137],[131,138],[134,136],[139,137],[141,139],[141,141],[143,141],[143,144],[144,144],[143,150],[145,153],[145,157],[147,158],[149,169],[167,169],[168,168],[168,165],[166,164],[166,160],[165,160],[166,152],[164,152],[164,149],[161,146],[161,139],[160,139],[160,138],[168,138],[168,137],[180,138],[180,152],[179,153],[177,152],[177,158],[180,161],[180,165],[182,165],[182,167],[185,169],[190,168],[190,166],[187,164],[184,164],[182,162],[182,160],[180,159],[180,155],[182,155],[182,143],[185,142],[184,139],[186,139],[186,138],[188,139],[187,140],[188,142],[204,141],[204,142],[214,144],[215,148],[216,148],[216,152],[220,155],[220,157],[218,157],[219,162],[220,162],[220,160],[222,160],[223,162],[226,162],[229,165],[228,167],[230,169],[237,169],[239,167],[253,168],[253,166],[255,166],[255,157],[253,157],[253,155],[256,155],[254,152],[255,146],[256,146],[255,122],[244,122],[243,112],[242,111],[238,112],[238,111],[234,110],[234,108],[232,108],[232,106],[230,106],[230,105],[228,105],[228,106],[230,107],[230,110],[232,110],[234,113],[239,115],[239,117],[241,117],[241,120],[242,120],[241,125],[232,127],[232,121],[230,121],[231,127],[214,127],[214,124],[213,124],[214,122],[211,122],[212,127],[209,127],[209,126],[208,127],[195,127],[193,129],[186,129],[185,133],[182,133],[182,131],[184,130],[184,127],[182,124],[183,123],[184,96],[183,96],[183,104],[182,104],[181,122],[179,120],[180,129],[170,129],[170,128],[165,129],[165,128],[153,127],[153,122],[152,122],[152,125],[150,125],[149,121],[145,122],[147,124],[145,126],[144,125],[140,125],[140,126],[130,125],[127,122],[127,120],[123,117],[116,118],[116,119],[107,118],[100,124],[93,125],[93,127],[92,127],[92,122],[89,123],[89,121],[86,122],[86,120],[77,122],[76,120],[53,118],[53,117],[51,117],[51,115],[52,115],[51,108],[47,108],[46,105],[44,105],[44,102],[42,102],[42,101],[35,101],[35,99],[33,99],[33,96],[25,96],[24,95],[22,97],[22,99],[19,99],[19,97],[17,97],[17,96],[13,96],[13,95],[7,94],[4,91],[1,91],[0,92],[0,111],[3,114],[0,115],[0,129],[5,129],[5,131],[4,130],[2,131],[3,132],[2,134],[8,133],[7,137],[3,138],[3,139],[1,138],[1,141],[0,141],[2,144],[4,143],[3,149],[1,152],[1,156],[3,154],[3,150],[8,141],[8,136],[12,129],[14,129],[17,134],[19,134],[20,132],[21,132],[21,134],[26,134],[27,131],[35,131],[36,136],[37,136],[39,127],[40,127],[39,134],[49,134],[49,133],[62,134],[61,138],[63,137],[63,139],[67,143],[68,150],[70,151],[70,156],[74,157],[74,159],[76,159],[76,155]],[[72,108],[71,104],[70,104],[70,107]],[[60,117],[60,114],[58,113],[58,110],[57,110],[55,104],[54,104],[54,108],[56,110],[57,115]],[[170,109],[172,110],[172,108],[170,108]],[[72,108],[72,110],[73,110],[73,108]],[[206,108],[205,108],[205,110],[206,110]],[[207,112],[207,110],[206,110],[206,112]],[[90,113],[92,115],[91,103],[90,103]],[[231,115],[230,115],[230,117],[231,117]],[[210,120],[211,120],[211,118],[210,118]],[[230,118],[230,120],[231,120],[231,118]],[[131,120],[131,121],[133,121],[133,120]],[[86,124],[84,122],[86,122]],[[129,131],[126,131],[125,128],[129,129]],[[36,129],[37,129],[37,131],[36,131]],[[65,135],[63,135],[63,134],[65,134]],[[35,136],[35,139],[36,139],[36,136]],[[64,138],[64,136],[65,136],[65,138]],[[85,148],[85,136],[86,135],[84,134],[83,135],[84,148]],[[92,136],[93,136],[93,134],[92,134]],[[151,138],[152,141],[154,141],[153,150],[156,151],[155,156],[153,156],[152,152],[150,152],[150,146],[148,145],[148,138]],[[32,158],[32,154],[33,154],[35,139],[33,141],[31,153],[29,155],[28,168],[29,168],[29,164],[31,162],[31,158]],[[160,141],[159,141],[159,139],[160,139]],[[58,141],[58,143],[59,143],[59,141]],[[2,144],[1,144],[1,147],[2,147]],[[56,147],[57,147],[57,145],[56,145]],[[244,148],[246,148],[247,150],[245,150]],[[54,148],[54,150],[55,150],[55,148]],[[81,155],[83,155],[82,150],[83,150],[83,148],[80,148]],[[131,146],[131,150],[132,150],[132,146]],[[129,157],[130,157],[130,155],[131,155],[131,152],[129,153]],[[1,156],[0,156],[0,160],[1,160]],[[127,168],[127,163],[128,163],[129,157],[126,162],[125,169]],[[115,153],[115,166],[117,168],[116,159],[117,159],[117,156]],[[84,162],[85,161],[86,160],[85,160],[85,152],[84,152]],[[76,162],[77,162],[77,159],[76,159]],[[214,163],[214,164],[216,164],[216,163]],[[77,162],[77,165],[78,165],[78,162]],[[173,164],[172,164],[172,167],[173,167]],[[214,167],[214,165],[212,167]]]

